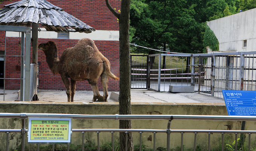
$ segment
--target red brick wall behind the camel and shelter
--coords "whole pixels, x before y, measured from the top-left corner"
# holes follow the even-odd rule
[[[18,0],[4,1],[0,4],[0,8],[9,3]],[[116,17],[109,11],[104,0],[49,0],[50,3],[63,8],[64,11],[94,27],[96,30],[119,30]],[[110,4],[117,10],[120,9],[120,0],[110,0]],[[4,32],[0,32],[0,46],[4,44]],[[6,54],[19,55],[18,48],[19,38],[6,39]],[[74,47],[78,40],[72,39],[38,39],[38,44],[47,41],[55,41],[59,51],[59,57],[64,49]],[[119,76],[119,41],[95,41],[96,46],[101,53],[109,59],[111,64],[110,71]],[[32,51],[32,49],[31,49]],[[39,89],[65,89],[60,75],[53,75],[48,68],[44,53],[38,50],[39,65]],[[19,60],[18,56],[6,57],[6,78],[20,78],[20,71],[15,70]],[[20,80],[6,80],[6,89],[20,89]],[[98,81],[100,91],[103,91],[100,80]],[[91,90],[87,81],[77,82],[77,90]],[[119,91],[119,81],[110,79],[108,91]]]

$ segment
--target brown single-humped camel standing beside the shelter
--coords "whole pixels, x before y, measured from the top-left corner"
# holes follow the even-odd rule
[[[43,50],[46,55],[46,62],[53,74],[60,74],[61,79],[67,89],[67,101],[73,102],[75,95],[75,85],[77,81],[88,80],[94,98],[92,101],[107,101],[107,85],[109,77],[113,80],[119,80],[110,72],[109,60],[100,53],[94,41],[89,38],[81,39],[75,47],[67,48],[63,51],[60,59],[58,58],[58,49],[53,41],[40,44],[38,50]],[[103,86],[103,97],[100,95],[97,82],[101,77]],[[70,82],[71,89],[70,89]]]

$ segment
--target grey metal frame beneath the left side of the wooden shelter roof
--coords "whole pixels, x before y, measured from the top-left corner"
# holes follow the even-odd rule
[[[20,101],[29,101],[30,92],[30,44],[31,44],[31,27],[20,26],[3,26],[0,25],[1,31],[21,32],[21,76],[20,76]],[[26,40],[25,40],[26,38]],[[26,54],[25,54],[26,51]],[[6,57],[6,38],[5,38],[5,55]],[[25,59],[26,58],[26,59]],[[5,66],[4,66],[5,70]],[[5,74],[5,73],[4,73]],[[4,75],[4,94],[5,94],[5,75]],[[9,78],[11,79],[11,78]]]

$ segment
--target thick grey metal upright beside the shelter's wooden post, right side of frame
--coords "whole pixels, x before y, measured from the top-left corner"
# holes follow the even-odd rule
[[[26,45],[25,45],[25,97],[24,101],[30,101],[30,42],[31,32],[26,32]],[[21,63],[21,66],[23,64]]]

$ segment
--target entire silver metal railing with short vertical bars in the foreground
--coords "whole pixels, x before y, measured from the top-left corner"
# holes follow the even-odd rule
[[[170,134],[171,133],[181,133],[181,151],[183,151],[183,134],[184,133],[194,133],[194,146],[193,150],[196,149],[196,139],[198,133],[208,133],[208,151],[210,151],[210,134],[220,133],[222,135],[221,139],[221,150],[224,150],[224,134],[233,133],[235,134],[235,151],[237,151],[238,145],[238,133],[248,134],[248,150],[251,149],[251,134],[256,133],[256,130],[173,130],[170,129],[171,122],[173,120],[217,120],[217,121],[256,121],[256,116],[211,116],[211,115],[78,115],[78,114],[48,114],[48,113],[0,113],[0,118],[20,118],[22,122],[21,129],[0,129],[0,132],[5,132],[6,137],[6,151],[8,151],[8,140],[9,133],[20,132],[21,133],[21,150],[25,150],[25,134],[28,132],[26,129],[26,118],[72,118],[72,119],[108,119],[108,120],[168,120],[167,129],[72,129],[72,133],[80,132],[82,133],[82,151],[84,151],[84,133],[85,132],[96,132],[97,133],[97,144],[98,151],[100,151],[100,132],[110,132],[112,133],[112,149],[114,151],[114,132],[124,132],[126,133],[126,151],[127,151],[127,133],[129,132],[139,132],[140,134],[140,151],[141,151],[141,134],[143,132],[151,132],[153,136],[153,151],[156,150],[156,133],[166,133],[167,134],[167,151],[170,150]],[[3,141],[3,140],[1,140]],[[39,144],[38,144],[39,150]],[[54,150],[54,145],[53,145]],[[69,144],[67,145],[67,150],[69,150]]]

